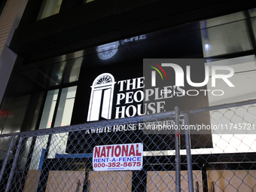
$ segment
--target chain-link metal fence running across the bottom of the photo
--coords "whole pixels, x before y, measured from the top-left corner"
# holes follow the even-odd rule
[[[254,103],[2,135],[0,191],[254,191]],[[142,169],[138,148],[107,147],[141,143]],[[93,161],[96,146],[107,161]]]

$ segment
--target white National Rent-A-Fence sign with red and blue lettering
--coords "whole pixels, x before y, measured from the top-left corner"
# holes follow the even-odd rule
[[[143,144],[101,145],[93,148],[94,171],[141,170]]]

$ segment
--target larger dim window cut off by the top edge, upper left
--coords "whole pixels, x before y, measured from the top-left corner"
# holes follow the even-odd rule
[[[58,14],[62,0],[44,0],[38,14],[38,20]]]

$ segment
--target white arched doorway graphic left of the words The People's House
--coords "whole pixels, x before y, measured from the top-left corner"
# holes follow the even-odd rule
[[[99,120],[100,117],[111,119],[114,84],[110,73],[103,73],[93,81],[87,121]]]

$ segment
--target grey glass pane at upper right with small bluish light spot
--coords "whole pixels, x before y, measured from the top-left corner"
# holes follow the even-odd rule
[[[252,49],[245,20],[202,29],[201,35],[204,57]]]

